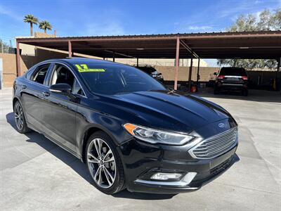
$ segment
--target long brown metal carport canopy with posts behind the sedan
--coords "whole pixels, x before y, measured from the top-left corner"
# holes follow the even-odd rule
[[[68,51],[69,56],[74,52],[100,58],[176,58],[175,89],[179,58],[280,60],[281,57],[281,31],[18,38],[16,41],[18,72],[20,43]]]

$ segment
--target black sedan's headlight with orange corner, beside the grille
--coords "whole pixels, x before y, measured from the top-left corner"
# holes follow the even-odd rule
[[[151,129],[135,124],[126,123],[123,125],[127,132],[138,139],[147,141],[149,143],[164,143],[171,145],[183,145],[191,141],[194,136],[185,134],[178,134],[174,132],[165,132],[158,129]]]

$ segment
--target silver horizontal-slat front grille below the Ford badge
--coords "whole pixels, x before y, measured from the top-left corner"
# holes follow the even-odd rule
[[[237,142],[237,128],[212,136],[191,148],[189,153],[194,158],[209,159],[221,155],[232,148]]]

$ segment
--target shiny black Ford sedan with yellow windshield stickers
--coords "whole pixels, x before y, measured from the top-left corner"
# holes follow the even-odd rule
[[[33,129],[77,156],[107,194],[194,191],[239,160],[225,109],[127,65],[46,60],[15,79],[13,108],[18,132]]]

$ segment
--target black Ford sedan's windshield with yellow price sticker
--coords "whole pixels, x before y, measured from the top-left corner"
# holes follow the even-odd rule
[[[80,66],[83,67],[84,64]],[[77,65],[75,65],[77,67]],[[92,92],[122,94],[135,91],[166,90],[163,84],[145,72],[126,65],[87,63],[87,69],[78,69]]]

